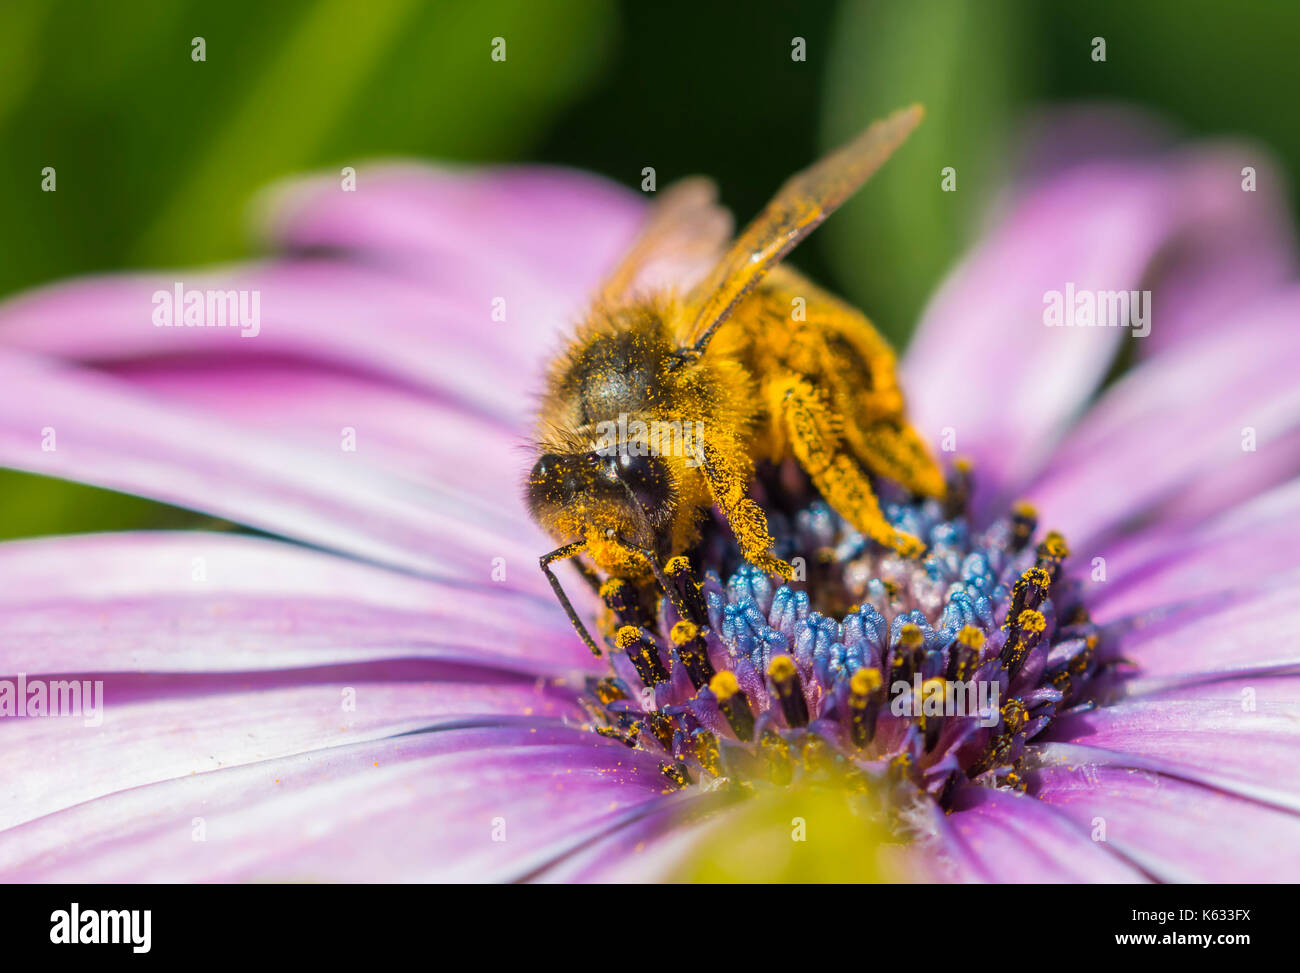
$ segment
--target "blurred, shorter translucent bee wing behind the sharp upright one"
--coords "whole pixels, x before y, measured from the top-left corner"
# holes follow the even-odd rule
[[[598,293],[602,303],[637,291],[694,284],[716,263],[732,234],[731,213],[718,206],[718,187],[694,176],[659,193],[632,247]]]

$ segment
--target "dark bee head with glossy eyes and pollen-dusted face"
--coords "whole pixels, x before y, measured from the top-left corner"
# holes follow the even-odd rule
[[[526,485],[528,510],[556,533],[614,529],[654,546],[671,523],[676,493],[667,462],[627,444],[586,453],[543,453]]]

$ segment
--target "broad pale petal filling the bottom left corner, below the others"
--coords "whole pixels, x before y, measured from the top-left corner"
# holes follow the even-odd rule
[[[642,813],[663,790],[653,756],[582,730],[448,725],[78,804],[0,833],[0,877],[510,881]]]

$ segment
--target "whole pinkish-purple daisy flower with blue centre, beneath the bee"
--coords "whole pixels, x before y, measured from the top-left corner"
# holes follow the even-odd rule
[[[806,780],[868,795],[904,878],[1295,878],[1284,202],[1258,150],[1079,144],[1097,130],[1054,124],[904,358],[918,429],[970,459],[946,503],[885,497],[926,558],[772,477],[806,583],[706,529],[699,624],[607,591],[601,660],[537,571],[520,446],[634,194],[308,180],[264,263],[8,302],[0,464],[250,529],[0,545],[0,877],[664,878]],[[1149,336],[1045,327],[1054,293],[1119,291],[1149,294]],[[191,293],[256,328],[187,324]],[[926,710],[962,682],[991,689],[974,714]],[[82,715],[43,718],[72,687]]]

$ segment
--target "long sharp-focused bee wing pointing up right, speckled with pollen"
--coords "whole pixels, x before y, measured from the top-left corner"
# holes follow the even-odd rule
[[[920,105],[902,108],[792,176],[692,290],[682,343],[702,351],[740,299],[893,155],[923,113]]]

